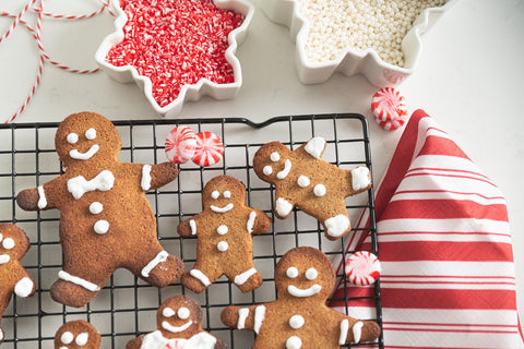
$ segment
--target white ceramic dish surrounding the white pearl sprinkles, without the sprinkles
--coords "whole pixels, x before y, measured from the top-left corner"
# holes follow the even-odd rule
[[[456,1],[458,0],[450,0],[441,8],[426,9],[416,19],[412,29],[402,41],[405,59],[402,68],[384,62],[372,49],[358,52],[347,48],[335,60],[308,61],[305,47],[309,23],[305,16],[299,14],[297,0],[261,0],[261,8],[271,21],[289,27],[290,37],[296,43],[298,77],[303,84],[322,83],[334,72],[341,72],[347,76],[364,74],[371,84],[378,87],[388,87],[398,85],[414,72],[420,56],[421,34],[427,32]]]

